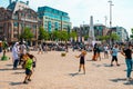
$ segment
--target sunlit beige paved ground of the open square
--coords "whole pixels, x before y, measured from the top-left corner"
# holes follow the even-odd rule
[[[0,61],[0,89],[132,89],[133,81],[126,81],[125,59],[119,53],[120,67],[110,66],[111,56],[102,60],[92,61],[92,52],[85,57],[86,73],[78,73],[79,59],[75,58],[80,51],[71,51],[61,57],[59,51],[48,51],[38,55],[38,51],[30,51],[37,57],[37,68],[33,71],[32,81],[23,85],[24,70],[19,68],[12,70],[11,52],[7,56],[10,60]],[[132,75],[133,76],[133,75]]]

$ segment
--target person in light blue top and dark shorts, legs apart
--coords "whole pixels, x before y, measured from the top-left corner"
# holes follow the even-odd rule
[[[111,50],[111,55],[112,55],[111,67],[113,66],[113,61],[116,62],[116,66],[120,66],[120,65],[117,63],[117,52],[119,52],[119,48],[117,48],[117,44],[115,44],[115,46],[113,47],[113,49]]]

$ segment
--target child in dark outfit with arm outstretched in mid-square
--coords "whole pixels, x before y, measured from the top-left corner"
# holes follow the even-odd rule
[[[84,57],[85,57],[85,55],[86,55],[86,51],[82,50],[80,56],[75,56],[76,58],[80,58],[79,72],[81,71],[81,67],[83,67],[84,75],[85,75],[85,67],[84,67]]]

